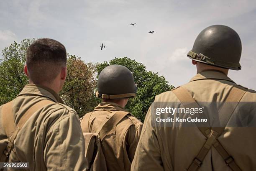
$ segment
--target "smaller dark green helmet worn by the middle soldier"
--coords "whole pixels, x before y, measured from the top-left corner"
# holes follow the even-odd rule
[[[105,67],[97,82],[97,97],[103,99],[124,99],[136,97],[137,86],[131,71],[122,65]]]

